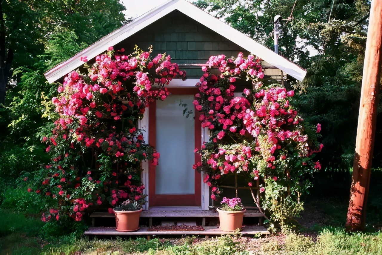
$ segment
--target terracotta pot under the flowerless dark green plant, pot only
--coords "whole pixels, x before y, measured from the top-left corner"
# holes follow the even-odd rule
[[[134,232],[139,229],[139,216],[142,208],[136,211],[115,211],[115,230],[118,232]]]

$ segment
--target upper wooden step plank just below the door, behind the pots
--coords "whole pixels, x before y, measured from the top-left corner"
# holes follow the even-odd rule
[[[244,217],[262,217],[259,211],[247,210]],[[95,212],[90,214],[90,218],[114,218],[113,213]],[[208,218],[219,217],[219,213],[214,211],[142,211],[141,218]]]

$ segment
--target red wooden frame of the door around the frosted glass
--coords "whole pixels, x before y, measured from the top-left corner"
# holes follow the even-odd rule
[[[168,89],[174,95],[191,95],[198,93],[198,89]],[[199,120],[200,112],[195,111],[195,148],[201,149],[202,122]],[[156,102],[152,102],[149,108],[149,141],[150,145],[156,145]],[[160,151],[159,151],[160,153]],[[191,151],[190,151],[191,153]],[[201,161],[201,155],[195,153],[195,164]],[[160,164],[160,158],[159,158]],[[191,168],[191,167],[190,167]],[[155,166],[149,167],[149,206],[201,206],[201,174],[195,171],[194,194],[155,194]]]

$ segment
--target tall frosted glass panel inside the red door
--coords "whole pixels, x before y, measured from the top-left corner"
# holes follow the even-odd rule
[[[193,95],[170,95],[156,103],[155,147],[160,153],[155,169],[156,194],[195,193],[193,100]],[[193,114],[186,118],[185,107],[179,104],[187,104]]]

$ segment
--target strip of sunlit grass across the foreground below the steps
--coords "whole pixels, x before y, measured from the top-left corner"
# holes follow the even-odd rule
[[[212,239],[186,237],[182,239],[137,238],[116,239],[57,239],[46,243],[38,237],[20,235],[19,232],[1,238],[1,254],[22,255],[230,255],[230,254],[382,254],[382,232],[347,233],[343,228],[323,229],[317,237],[290,233],[268,237],[222,236]]]

